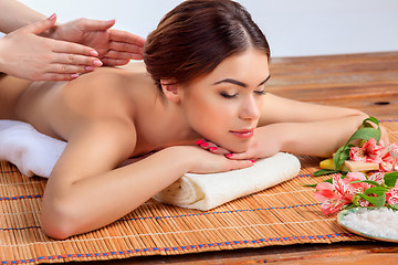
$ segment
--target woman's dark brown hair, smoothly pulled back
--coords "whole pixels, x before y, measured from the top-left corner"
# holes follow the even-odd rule
[[[241,4],[188,0],[168,12],[148,35],[144,62],[157,84],[166,78],[185,84],[250,46],[270,57],[264,34]]]

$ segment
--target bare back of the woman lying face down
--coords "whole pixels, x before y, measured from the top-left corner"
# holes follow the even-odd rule
[[[63,140],[87,124],[119,120],[126,128],[132,127],[132,137],[136,134],[139,138],[126,142],[132,145],[130,156],[159,149],[165,135],[160,137],[156,131],[164,131],[168,121],[163,118],[165,100],[143,66],[103,67],[72,82],[28,82],[4,76],[0,91],[8,87],[2,89],[8,106],[1,109],[1,118],[27,121]]]

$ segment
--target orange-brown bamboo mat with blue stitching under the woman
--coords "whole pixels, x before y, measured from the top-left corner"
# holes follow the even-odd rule
[[[398,141],[398,121],[384,120]],[[321,213],[312,177],[320,159],[300,157],[293,180],[234,200],[208,212],[153,200],[111,225],[64,241],[46,237],[40,227],[45,180],[22,176],[1,161],[0,264],[100,261],[147,255],[237,250],[269,245],[367,241],[342,229],[336,216]]]

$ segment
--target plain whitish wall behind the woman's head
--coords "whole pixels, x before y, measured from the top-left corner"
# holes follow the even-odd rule
[[[272,56],[398,51],[398,0],[238,0],[265,33]],[[116,19],[146,36],[181,0],[21,0],[59,21]]]

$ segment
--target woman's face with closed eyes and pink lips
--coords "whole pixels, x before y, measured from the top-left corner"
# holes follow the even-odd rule
[[[245,151],[259,123],[268,56],[250,49],[222,61],[210,74],[181,87],[180,103],[192,129],[230,151]]]

